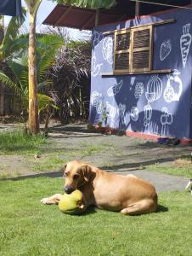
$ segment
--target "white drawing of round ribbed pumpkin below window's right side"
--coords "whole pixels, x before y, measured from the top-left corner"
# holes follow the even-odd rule
[[[148,102],[155,102],[161,97],[162,93],[162,81],[158,75],[150,77],[147,83],[147,91],[145,92]]]

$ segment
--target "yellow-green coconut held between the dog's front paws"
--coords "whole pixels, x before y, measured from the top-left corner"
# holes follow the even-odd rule
[[[79,214],[86,210],[83,202],[83,195],[80,190],[75,190],[71,194],[64,194],[59,201],[59,210],[67,214]]]

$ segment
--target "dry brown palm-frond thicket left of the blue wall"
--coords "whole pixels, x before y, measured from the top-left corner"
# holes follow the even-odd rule
[[[71,41],[59,51],[50,76],[54,80],[52,97],[59,106],[59,118],[88,119],[91,44]]]

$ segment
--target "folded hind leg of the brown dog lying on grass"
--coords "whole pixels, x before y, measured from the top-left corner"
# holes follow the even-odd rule
[[[122,214],[127,215],[139,215],[139,214],[145,214],[150,212],[155,212],[157,208],[157,205],[155,201],[152,201],[150,199],[138,201],[133,205],[128,206],[127,208],[124,208],[121,210]]]

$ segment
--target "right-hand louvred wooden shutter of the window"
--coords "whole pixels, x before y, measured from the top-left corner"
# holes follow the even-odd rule
[[[133,29],[132,70],[150,71],[152,66],[152,26]]]

